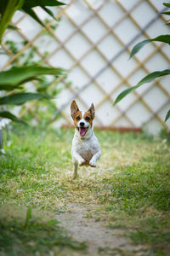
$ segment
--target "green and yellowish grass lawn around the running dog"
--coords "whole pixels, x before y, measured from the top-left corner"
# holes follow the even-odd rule
[[[73,132],[26,127],[11,132],[0,161],[0,255],[85,253],[86,245],[55,220],[67,202],[95,205],[87,218],[126,230],[133,243],[144,245],[143,255],[170,255],[169,135],[96,131],[102,149],[98,167],[80,168],[73,182]]]

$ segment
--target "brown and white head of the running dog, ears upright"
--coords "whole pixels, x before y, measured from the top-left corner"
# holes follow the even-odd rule
[[[91,107],[88,109],[88,111],[83,112],[79,110],[77,102],[71,102],[71,117],[74,121],[75,128],[77,131],[79,131],[80,137],[84,137],[92,128],[94,114],[95,110],[93,103],[91,104]]]

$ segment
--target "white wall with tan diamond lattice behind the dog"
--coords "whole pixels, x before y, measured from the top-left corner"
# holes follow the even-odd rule
[[[70,104],[76,99],[82,110],[94,102],[94,125],[99,128],[169,131],[170,120],[164,122],[170,106],[169,76],[145,84],[113,107],[122,90],[150,72],[170,67],[170,51],[163,43],[152,42],[129,60],[135,44],[169,32],[166,17],[160,15],[166,9],[164,1],[62,2],[66,5],[48,8],[56,20],[39,7],[34,9],[46,28],[17,11],[12,24],[18,29],[3,36],[1,70],[34,63],[65,69],[58,79],[43,76],[41,82],[26,84],[29,91],[47,92],[53,100],[27,102],[10,107],[11,112],[32,125],[48,120],[54,127],[70,126]]]

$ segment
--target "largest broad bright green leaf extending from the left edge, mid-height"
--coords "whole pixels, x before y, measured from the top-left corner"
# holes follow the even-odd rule
[[[0,88],[3,86],[3,90],[6,90],[4,86],[7,86],[7,90],[9,90],[10,87],[13,89],[27,81],[37,79],[39,75],[52,74],[59,77],[63,72],[64,70],[61,68],[40,67],[35,65],[29,67],[14,67],[0,73]]]

